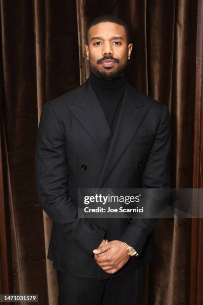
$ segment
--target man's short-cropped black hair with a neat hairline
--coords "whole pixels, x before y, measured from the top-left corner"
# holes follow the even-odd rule
[[[93,26],[93,25],[96,25],[98,23],[102,23],[102,22],[113,22],[113,23],[117,23],[117,24],[120,24],[124,27],[125,31],[126,31],[126,35],[127,35],[127,42],[129,43],[129,40],[130,40],[130,34],[129,34],[129,27],[127,26],[127,24],[121,20],[120,18],[116,17],[116,16],[113,16],[113,15],[109,15],[109,14],[104,14],[104,15],[101,15],[101,16],[98,16],[97,18],[95,18],[87,27],[87,30],[86,30],[86,43],[88,44],[88,34],[89,34],[89,31],[90,31],[90,28]]]

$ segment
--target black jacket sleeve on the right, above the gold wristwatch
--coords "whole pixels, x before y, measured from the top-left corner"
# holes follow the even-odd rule
[[[162,119],[157,129],[154,144],[142,175],[142,188],[169,188],[168,155],[171,144],[171,121],[168,107],[165,105],[163,106]],[[167,193],[167,190],[163,191]],[[150,200],[147,202],[149,208],[150,205],[152,206],[153,204],[153,199],[151,202]],[[163,205],[166,205],[164,200]],[[145,204],[143,204],[143,207],[144,206]],[[160,210],[160,206],[157,210]],[[140,256],[145,242],[156,223],[157,218],[155,217],[132,218],[131,223],[123,232],[120,240],[133,247]],[[137,256],[137,258],[139,258],[139,256]]]

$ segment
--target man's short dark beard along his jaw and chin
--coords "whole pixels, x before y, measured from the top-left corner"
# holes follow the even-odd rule
[[[91,70],[99,77],[102,77],[105,80],[115,79],[120,77],[125,71],[126,67],[129,65],[129,61],[127,61],[125,64],[123,64],[118,70],[116,71],[109,71],[111,67],[105,67],[106,71],[100,71],[97,69],[96,66],[94,66],[90,62],[90,68]]]

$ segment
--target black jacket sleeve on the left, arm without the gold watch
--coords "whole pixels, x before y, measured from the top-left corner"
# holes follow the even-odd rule
[[[42,107],[35,148],[35,179],[39,204],[78,247],[94,255],[106,230],[89,219],[78,218],[69,196],[65,139],[50,103]]]

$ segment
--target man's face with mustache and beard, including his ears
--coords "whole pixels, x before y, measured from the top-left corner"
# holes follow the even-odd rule
[[[85,48],[91,70],[104,79],[113,79],[123,74],[132,43],[127,43],[122,25],[101,22],[90,28]]]

